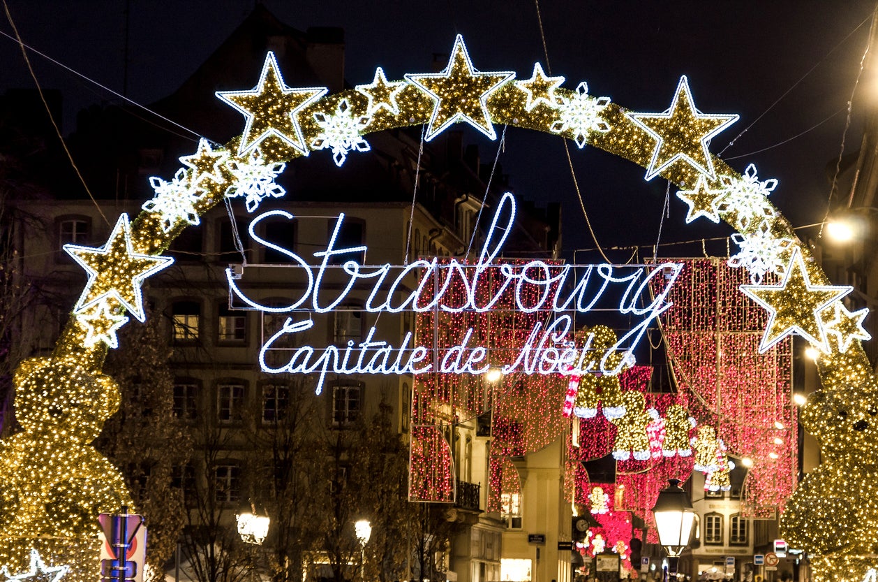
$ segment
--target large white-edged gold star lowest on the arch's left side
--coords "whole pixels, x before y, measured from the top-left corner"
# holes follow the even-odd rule
[[[93,249],[65,244],[67,251],[89,273],[83,295],[73,312],[78,315],[97,302],[115,298],[139,321],[144,321],[143,295],[140,286],[148,276],[158,273],[174,262],[170,257],[153,257],[134,252],[128,215],[122,214],[106,244]]]

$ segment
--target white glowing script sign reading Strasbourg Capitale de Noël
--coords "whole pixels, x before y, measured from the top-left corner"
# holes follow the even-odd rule
[[[340,214],[326,248],[313,252],[320,264],[311,265],[296,252],[257,234],[259,223],[267,218],[292,221],[295,217],[284,210],[272,210],[257,216],[248,230],[257,244],[290,259],[284,267],[295,271],[296,284],[290,291],[296,298],[284,305],[259,302],[252,291],[241,287],[242,275],[232,267],[226,271],[229,290],[233,302],[242,302],[249,309],[291,314],[262,346],[260,366],[270,374],[319,375],[318,394],[330,373],[484,374],[491,366],[499,365],[504,374],[617,374],[623,367],[633,365],[634,348],[651,322],[671,306],[666,295],[682,268],[679,263],[619,266],[565,265],[538,259],[504,262],[500,259],[503,244],[515,224],[515,198],[510,193],[504,194],[497,205],[475,264],[462,263],[457,258],[421,258],[405,266],[362,265],[349,257],[363,254],[365,246],[336,248],[344,223],[344,215]],[[348,259],[342,261],[344,258]],[[338,265],[339,262],[342,264]],[[650,286],[656,278],[663,278],[666,283],[653,296]],[[517,353],[501,362],[493,361],[486,342],[476,339],[484,339],[478,320],[460,330],[459,337],[450,346],[446,342],[442,349],[437,349],[435,338],[433,343],[422,345],[422,338],[415,338],[411,331],[407,331],[399,345],[393,345],[378,337],[375,325],[365,332],[362,341],[349,339],[346,346],[315,347],[297,341],[313,328],[313,314],[345,309],[352,295],[362,298],[362,311],[373,314],[432,312],[441,317],[460,313],[497,315],[503,310],[518,310],[539,317],[522,338]],[[594,357],[593,335],[573,342],[573,317],[598,310],[615,311],[632,324],[600,359]],[[284,357],[279,359],[277,353]]]

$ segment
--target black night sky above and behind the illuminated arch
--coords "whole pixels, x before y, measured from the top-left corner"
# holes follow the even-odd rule
[[[182,84],[254,5],[252,0],[6,2],[25,43],[115,91],[127,85],[128,97],[142,104]],[[526,78],[534,62],[545,64],[532,0],[263,4],[300,30],[342,26],[350,84],[371,81],[378,65],[392,79],[425,72],[434,53],[450,51],[456,33],[464,34],[478,69],[515,70],[519,78]],[[755,121],[725,150],[723,159],[738,171],[754,163],[760,178],[778,178],[780,185],[771,199],[795,226],[822,220],[830,190],[826,167],[838,158],[846,102],[866,48],[873,1],[540,0],[539,8],[551,70],[567,78],[565,87],[572,89],[584,80],[594,96],[608,96],[635,111],[660,112],[670,105],[680,75],[687,75],[695,105],[703,113],[741,115],[714,138],[711,151],[721,151]],[[11,33],[6,18],[0,18],[0,31]],[[77,108],[112,98],[40,56],[32,55],[32,62],[40,84],[64,92],[66,130],[73,128]],[[253,84],[258,75],[254,70]],[[292,78],[285,81],[296,84]],[[867,84],[865,77],[860,79],[855,110],[867,104]],[[32,80],[18,46],[0,38],[0,91],[21,86],[32,87]],[[862,114],[855,111],[846,153],[859,148],[861,120]],[[471,139],[479,142],[483,162],[493,160],[496,142],[474,133]],[[786,143],[772,147],[781,142]],[[583,228],[560,139],[509,130],[506,146],[500,164],[511,175],[516,192],[543,203],[563,201],[565,249],[594,246]],[[755,153],[762,149],[766,150]],[[579,150],[571,143],[571,153],[601,244],[655,243],[666,183],[660,178],[646,183],[643,169],[597,149]],[[673,192],[663,241],[730,232],[704,219],[695,223],[701,225],[684,227],[686,206]],[[725,244],[713,249],[724,254]],[[664,251],[692,252],[682,247],[680,252],[673,247]],[[611,258],[621,260],[629,254]]]

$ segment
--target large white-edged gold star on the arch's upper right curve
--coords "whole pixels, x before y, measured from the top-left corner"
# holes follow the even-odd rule
[[[655,178],[678,160],[715,179],[708,149],[710,138],[738,120],[738,115],[711,115],[695,108],[686,76],[680,77],[677,92],[665,113],[626,113],[628,118],[656,140],[646,179]]]

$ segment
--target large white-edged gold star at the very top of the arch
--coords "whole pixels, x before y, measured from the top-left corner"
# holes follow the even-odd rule
[[[426,141],[457,121],[466,121],[492,140],[497,139],[488,113],[487,100],[501,84],[515,77],[513,72],[483,73],[472,66],[464,38],[458,34],[448,66],[441,73],[406,78],[434,99]]]

